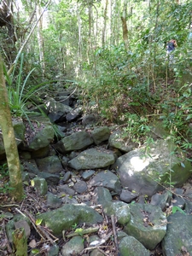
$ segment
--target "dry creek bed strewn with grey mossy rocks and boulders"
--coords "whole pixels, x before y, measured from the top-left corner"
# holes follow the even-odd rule
[[[138,147],[120,126],[84,114],[74,91],[31,102],[33,128],[13,121],[26,194],[20,204],[3,189],[0,134],[0,255],[22,255],[16,232],[26,236],[20,247],[27,255],[192,255],[186,155],[159,121],[151,126],[153,142]]]

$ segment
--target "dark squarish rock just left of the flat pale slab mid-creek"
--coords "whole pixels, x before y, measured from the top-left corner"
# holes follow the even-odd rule
[[[57,155],[51,155],[43,159],[37,159],[36,163],[40,172],[59,174],[63,170],[61,160]]]

